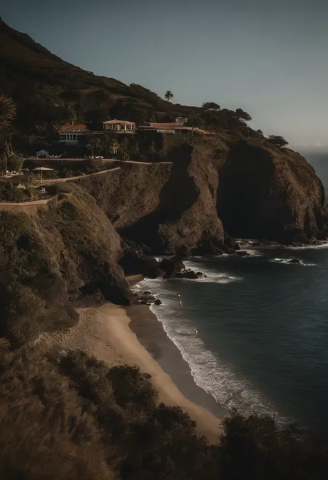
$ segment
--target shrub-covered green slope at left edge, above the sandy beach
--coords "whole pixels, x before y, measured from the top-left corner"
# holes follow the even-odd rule
[[[78,318],[56,272],[54,252],[24,213],[0,213],[0,332],[24,344]]]

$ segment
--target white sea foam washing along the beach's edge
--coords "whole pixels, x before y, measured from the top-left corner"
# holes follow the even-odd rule
[[[188,261],[188,268],[194,267],[195,265]],[[197,267],[199,268],[199,265]],[[206,269],[206,274],[210,278],[210,270]],[[184,317],[183,311],[188,314],[188,305],[183,304],[179,294],[167,285],[167,281],[161,278],[145,279],[134,285],[134,290],[151,290],[161,299],[162,305],[151,306],[150,309],[162,323],[167,337],[179,348],[183,359],[190,366],[194,382],[212,395],[221,407],[237,409],[244,415],[256,412],[285,420],[251,382],[236,373],[233,366],[224,362],[218,353],[206,347],[201,339],[201,325],[196,325],[194,321]]]

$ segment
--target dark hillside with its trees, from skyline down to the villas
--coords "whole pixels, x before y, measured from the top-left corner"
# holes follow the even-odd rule
[[[0,44],[0,94],[15,100],[15,126],[24,134],[49,136],[48,124],[65,121],[83,121],[97,127],[109,118],[140,125],[145,121],[170,122],[176,116],[185,116],[192,125],[244,128],[248,135],[255,135],[244,121],[249,117],[246,112],[228,109],[210,112],[174,105],[141,85],[125,85],[113,78],[94,75],[64,62],[1,19]]]

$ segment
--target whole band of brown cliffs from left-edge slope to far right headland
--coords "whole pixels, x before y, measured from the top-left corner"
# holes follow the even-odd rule
[[[82,299],[129,305],[124,273],[154,274],[152,254],[233,253],[226,231],[325,238],[322,184],[295,152],[217,137],[179,140],[163,159],[59,184],[33,215],[0,213],[0,335],[72,325]]]

